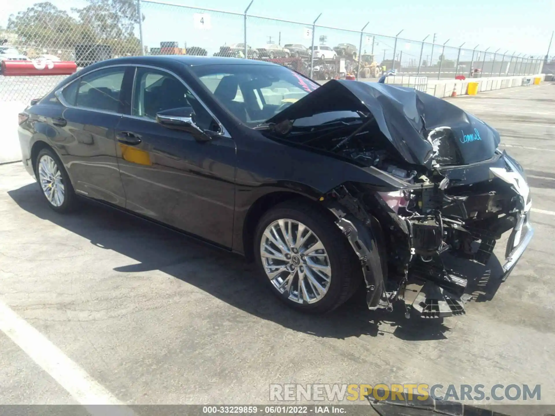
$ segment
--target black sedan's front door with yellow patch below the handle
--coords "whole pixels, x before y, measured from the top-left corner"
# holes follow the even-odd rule
[[[208,134],[156,121],[160,111],[188,107]],[[115,130],[127,208],[231,247],[235,142],[221,130],[177,75],[137,66],[130,114]]]

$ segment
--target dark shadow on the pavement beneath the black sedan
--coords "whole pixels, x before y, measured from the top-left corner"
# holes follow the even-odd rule
[[[229,305],[294,331],[338,339],[390,333],[408,341],[421,341],[445,339],[450,330],[443,319],[405,318],[402,305],[393,312],[369,311],[362,287],[349,302],[329,314],[303,314],[273,296],[257,276],[254,265],[239,255],[94,202],[83,202],[72,214],[58,214],[42,199],[37,184],[8,191],[8,195],[38,218],[137,261],[116,267],[115,271],[162,271]]]

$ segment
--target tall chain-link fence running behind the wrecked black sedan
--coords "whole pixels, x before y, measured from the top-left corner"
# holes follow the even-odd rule
[[[12,15],[0,31],[0,61],[43,62],[37,68],[74,62],[81,68],[143,54],[238,57],[285,65],[319,82],[377,81],[390,70],[428,79],[531,75],[543,65],[543,57],[372,34],[369,24],[342,29],[319,25],[319,16],[311,22],[253,16],[250,4],[238,13],[157,0],[85,1],[70,9],[37,2]],[[64,76],[0,74],[0,100],[27,103]]]

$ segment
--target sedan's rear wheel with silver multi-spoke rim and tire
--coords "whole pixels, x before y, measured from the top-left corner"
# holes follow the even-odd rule
[[[52,149],[39,151],[35,172],[42,195],[54,211],[69,212],[74,209],[77,196],[62,161]]]

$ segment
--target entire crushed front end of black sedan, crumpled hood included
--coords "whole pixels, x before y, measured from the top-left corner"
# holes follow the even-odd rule
[[[402,300],[407,313],[412,308],[421,317],[464,313],[466,262],[486,265],[497,240],[512,230],[504,280],[532,238],[521,166],[497,149],[495,129],[444,100],[340,83],[346,94],[330,83],[269,120],[270,134],[391,183],[344,182],[321,197],[359,257],[369,308],[392,310]],[[309,99],[325,88],[341,98]],[[327,119],[315,124],[315,115]],[[312,119],[297,123],[302,118]],[[448,257],[462,266],[448,266]]]

